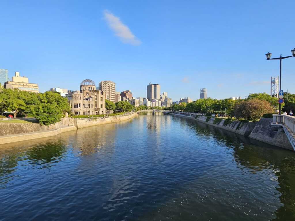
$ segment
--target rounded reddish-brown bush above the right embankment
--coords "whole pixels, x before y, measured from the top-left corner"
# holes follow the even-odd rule
[[[244,118],[248,121],[256,121],[265,113],[273,112],[271,104],[265,100],[250,99],[243,100],[235,106],[235,117]]]

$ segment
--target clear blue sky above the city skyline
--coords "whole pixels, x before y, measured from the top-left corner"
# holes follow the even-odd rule
[[[295,47],[294,0],[0,1],[0,68],[40,91],[112,80],[146,97],[149,82],[179,100],[270,93]],[[295,93],[295,58],[282,89]]]

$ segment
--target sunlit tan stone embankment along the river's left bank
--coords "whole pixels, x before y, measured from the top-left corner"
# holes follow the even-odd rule
[[[0,144],[55,136],[66,131],[77,130],[78,128],[127,121],[135,116],[137,116],[136,112],[125,116],[111,116],[94,119],[62,118],[60,122],[50,126],[41,126],[40,124],[35,123],[0,123]]]

